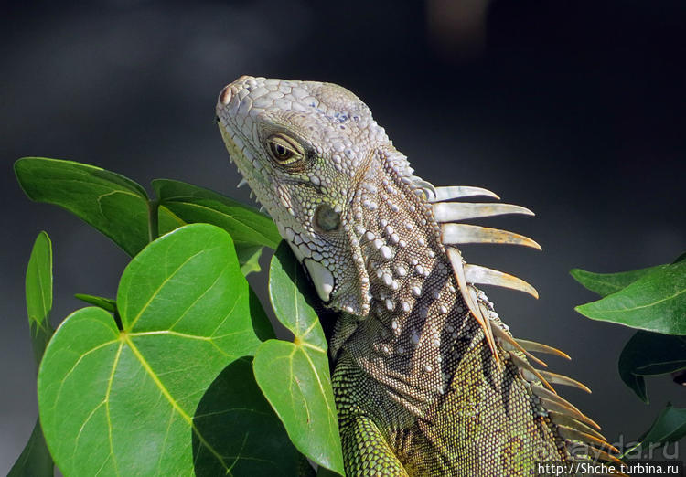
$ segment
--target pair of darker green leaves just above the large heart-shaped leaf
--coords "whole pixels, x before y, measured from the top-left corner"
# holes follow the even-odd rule
[[[234,238],[244,274],[259,271],[264,246],[281,238],[273,221],[253,207],[179,181],[157,179],[157,199],[124,177],[88,164],[45,157],[16,161],[15,173],[27,196],[64,207],[111,238],[133,257],[160,234],[191,223],[209,223]]]

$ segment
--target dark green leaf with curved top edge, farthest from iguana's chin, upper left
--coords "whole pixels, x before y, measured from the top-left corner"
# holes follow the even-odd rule
[[[148,243],[148,197],[123,175],[44,157],[19,159],[15,173],[31,200],[66,208],[130,256]]]

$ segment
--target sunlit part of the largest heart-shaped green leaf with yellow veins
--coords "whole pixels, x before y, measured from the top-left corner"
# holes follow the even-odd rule
[[[188,475],[195,434],[228,470],[193,416],[221,370],[260,345],[253,323],[267,324],[258,308],[220,228],[177,228],[146,247],[119,284],[123,330],[102,308],[84,308],[46,350],[38,405],[59,469]]]

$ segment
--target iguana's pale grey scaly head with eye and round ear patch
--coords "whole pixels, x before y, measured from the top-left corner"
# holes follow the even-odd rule
[[[394,151],[369,108],[334,84],[242,76],[221,91],[217,121],[232,161],[319,297],[366,315],[366,228],[351,204],[360,185],[370,186],[366,176],[379,174],[370,171],[373,156]]]

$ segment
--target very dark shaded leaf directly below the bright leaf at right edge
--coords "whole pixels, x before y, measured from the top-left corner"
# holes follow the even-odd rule
[[[638,331],[624,346],[617,367],[622,381],[648,403],[644,376],[686,369],[686,336]]]

